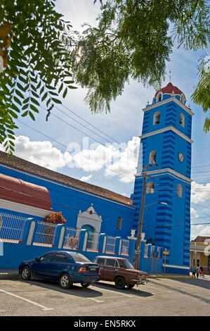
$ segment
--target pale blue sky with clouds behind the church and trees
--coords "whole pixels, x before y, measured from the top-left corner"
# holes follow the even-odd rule
[[[96,25],[100,1],[57,0],[55,8],[72,24],[72,30],[81,30],[83,23]],[[192,196],[191,239],[197,235],[210,236],[210,132],[202,126],[205,114],[190,96],[197,85],[197,65],[200,56],[208,50],[184,51],[173,49],[167,63],[166,80],[185,94],[195,113],[192,118]],[[143,87],[134,80],[126,84],[122,96],[111,104],[110,113],[92,114],[84,103],[86,89],[69,90],[62,105],[55,106],[46,122],[46,110],[40,108],[36,121],[19,118],[15,131],[15,155],[58,173],[105,187],[130,196],[136,173],[139,136],[143,111],[147,101],[155,96],[153,87]],[[2,147],[1,147],[2,149]]]

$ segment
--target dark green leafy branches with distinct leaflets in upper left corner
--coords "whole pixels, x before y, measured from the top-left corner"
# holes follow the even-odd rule
[[[15,119],[34,120],[40,101],[61,103],[74,88],[65,42],[71,25],[54,9],[55,0],[1,0],[0,143],[14,150]],[[58,92],[57,92],[58,91]]]

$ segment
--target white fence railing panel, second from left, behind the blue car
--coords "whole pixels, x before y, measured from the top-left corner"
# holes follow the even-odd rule
[[[34,236],[33,245],[35,246],[51,246],[55,233],[55,224],[37,221],[37,230]]]

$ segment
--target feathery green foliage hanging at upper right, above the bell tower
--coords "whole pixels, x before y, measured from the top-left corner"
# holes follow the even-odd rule
[[[73,77],[88,89],[85,100],[92,112],[110,111],[111,101],[122,94],[129,77],[155,89],[162,84],[175,43],[197,51],[207,47],[208,40],[207,1],[103,1],[98,27],[86,25],[70,51]],[[199,82],[193,100],[206,110],[209,85],[203,76],[205,82]]]

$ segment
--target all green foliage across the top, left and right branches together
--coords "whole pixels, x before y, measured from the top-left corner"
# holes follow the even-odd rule
[[[1,0],[0,144],[6,151],[14,151],[18,116],[35,120],[42,102],[49,115],[54,103],[61,104],[58,95],[65,97],[74,82],[88,89],[92,112],[110,111],[129,77],[155,89],[161,85],[175,42],[195,51],[208,44],[206,0],[98,1],[98,27],[87,25],[72,35],[55,0]],[[203,58],[192,100],[206,113],[209,75]],[[210,130],[208,117],[204,130]]]

